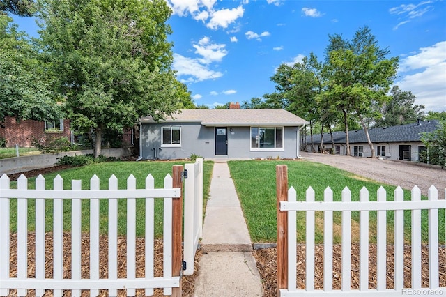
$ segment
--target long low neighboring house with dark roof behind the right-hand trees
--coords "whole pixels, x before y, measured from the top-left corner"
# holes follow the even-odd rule
[[[420,161],[420,153],[426,149],[421,141],[423,133],[433,132],[440,127],[438,121],[417,121],[407,125],[369,129],[375,155],[390,160]],[[334,148],[330,133],[323,135],[323,147],[329,153],[346,154],[346,133],[333,132]],[[371,157],[364,130],[348,131],[350,152],[355,157]],[[311,139],[307,137],[307,151],[311,151]],[[314,146],[321,151],[321,135],[313,135]]]

